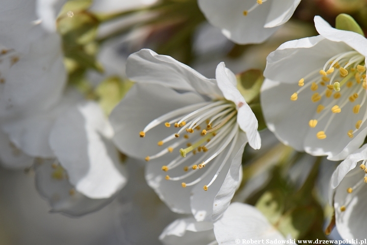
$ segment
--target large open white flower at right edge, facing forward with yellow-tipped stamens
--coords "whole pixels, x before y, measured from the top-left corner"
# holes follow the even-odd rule
[[[267,58],[261,104],[285,144],[345,159],[366,134],[367,39],[314,18],[319,36],[289,41]]]

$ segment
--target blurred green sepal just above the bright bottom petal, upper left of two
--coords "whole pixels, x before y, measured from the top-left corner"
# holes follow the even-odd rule
[[[282,192],[274,189],[261,195],[255,206],[274,225],[284,211],[284,201]]]

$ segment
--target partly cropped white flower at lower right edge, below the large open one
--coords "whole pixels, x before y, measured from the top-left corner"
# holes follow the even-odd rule
[[[364,239],[367,218],[367,144],[349,155],[335,169],[329,188],[336,229],[343,239]],[[358,163],[358,166],[357,166]]]

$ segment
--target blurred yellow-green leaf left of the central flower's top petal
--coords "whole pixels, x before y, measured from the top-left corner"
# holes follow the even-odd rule
[[[99,97],[99,105],[107,115],[111,113],[132,85],[133,82],[122,81],[118,77],[110,77],[98,85],[95,93]]]

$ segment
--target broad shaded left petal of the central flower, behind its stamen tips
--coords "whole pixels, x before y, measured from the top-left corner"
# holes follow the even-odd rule
[[[191,104],[203,102],[195,93],[179,93],[158,84],[135,84],[110,115],[114,142],[125,154],[145,158],[162,151],[158,141],[177,132],[163,124],[148,131],[144,138],[139,132],[155,118]]]

